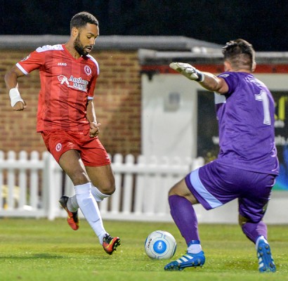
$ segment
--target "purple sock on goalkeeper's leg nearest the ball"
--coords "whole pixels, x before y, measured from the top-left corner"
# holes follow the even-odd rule
[[[192,204],[178,195],[169,196],[171,216],[188,244],[191,240],[199,240],[198,221]]]

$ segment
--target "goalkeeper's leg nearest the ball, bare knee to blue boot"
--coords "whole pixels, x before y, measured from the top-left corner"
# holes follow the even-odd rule
[[[168,263],[165,270],[183,270],[187,267],[203,266],[204,252],[199,240],[198,222],[192,204],[198,201],[188,189],[185,179],[176,183],[169,190],[169,206],[171,216],[188,245],[187,253],[180,259]]]

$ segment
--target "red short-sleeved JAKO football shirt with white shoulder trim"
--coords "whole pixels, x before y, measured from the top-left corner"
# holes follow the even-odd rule
[[[75,59],[64,44],[47,45],[37,48],[16,66],[24,74],[39,70],[38,132],[89,129],[86,105],[93,98],[99,74],[98,63],[91,55]]]

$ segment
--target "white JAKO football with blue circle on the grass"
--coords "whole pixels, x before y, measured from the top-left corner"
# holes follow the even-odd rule
[[[151,259],[171,259],[175,251],[176,240],[166,231],[153,231],[145,240],[145,252]]]

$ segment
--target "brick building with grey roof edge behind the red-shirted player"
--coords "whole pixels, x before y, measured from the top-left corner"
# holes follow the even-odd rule
[[[22,112],[11,110],[4,75],[15,63],[25,58],[38,46],[60,44],[66,36],[4,36],[0,38],[0,150],[7,152],[46,150],[36,133],[38,71],[19,79],[20,93],[27,102]],[[154,70],[141,65],[140,49],[154,51],[191,51],[193,47],[216,48],[216,44],[186,37],[99,37],[93,53],[100,65],[96,85],[96,115],[100,140],[111,155],[141,153],[141,73]]]

